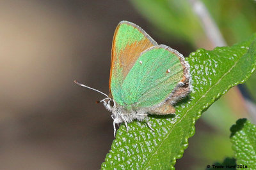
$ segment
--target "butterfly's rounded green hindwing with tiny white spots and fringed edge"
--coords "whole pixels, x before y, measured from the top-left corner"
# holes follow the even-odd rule
[[[189,87],[189,81],[189,64],[184,57],[166,45],[156,45],[141,53],[118,89],[118,95],[113,97],[127,109],[157,109],[167,104],[159,109],[161,114],[163,109],[172,110],[166,102],[175,103],[179,93],[188,94],[190,88],[180,87]],[[172,97],[174,94],[176,97]]]

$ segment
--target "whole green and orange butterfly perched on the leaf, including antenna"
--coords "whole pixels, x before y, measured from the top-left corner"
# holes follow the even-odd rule
[[[133,120],[148,122],[148,114],[175,113],[173,104],[192,90],[189,64],[183,55],[166,45],[158,45],[143,29],[122,21],[115,30],[112,43],[109,95],[100,92],[106,110],[115,124]],[[152,129],[154,131],[154,129]]]

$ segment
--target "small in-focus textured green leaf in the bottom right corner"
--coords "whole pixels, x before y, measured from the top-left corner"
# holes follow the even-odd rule
[[[237,165],[247,166],[247,169],[255,169],[256,125],[251,124],[246,118],[241,118],[237,120],[236,125],[232,125],[230,131]]]

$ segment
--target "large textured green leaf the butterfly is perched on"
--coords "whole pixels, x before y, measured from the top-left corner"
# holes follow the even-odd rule
[[[228,89],[252,74],[256,64],[256,35],[237,45],[200,49],[189,55],[193,91],[176,104],[175,115],[152,115],[151,131],[144,122],[121,125],[102,169],[174,169],[176,159],[195,133],[195,120]],[[249,48],[250,46],[250,48]],[[249,50],[248,50],[249,49]]]

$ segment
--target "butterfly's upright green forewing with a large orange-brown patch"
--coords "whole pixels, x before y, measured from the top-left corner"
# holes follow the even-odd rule
[[[131,22],[122,21],[116,27],[112,43],[109,90],[111,96],[118,96],[125,77],[140,56],[140,53],[157,45],[143,29]]]

